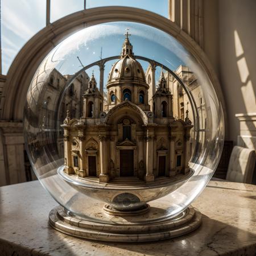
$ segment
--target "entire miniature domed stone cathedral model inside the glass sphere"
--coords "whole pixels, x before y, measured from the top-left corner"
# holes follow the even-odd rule
[[[115,177],[135,176],[147,183],[189,172],[193,126],[188,113],[185,121],[173,117],[163,71],[149,104],[150,86],[128,36],[109,73],[107,102],[92,75],[82,96],[82,117],[71,119],[67,112],[61,125],[64,172],[81,180],[92,177],[108,183]]]

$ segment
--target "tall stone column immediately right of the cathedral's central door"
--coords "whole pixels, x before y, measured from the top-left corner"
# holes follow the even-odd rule
[[[153,174],[153,160],[154,160],[154,130],[148,129],[146,136],[146,182],[155,180]]]

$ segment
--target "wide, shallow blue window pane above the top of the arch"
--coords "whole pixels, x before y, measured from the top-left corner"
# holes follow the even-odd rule
[[[152,11],[168,18],[168,0],[87,0],[86,9],[99,6],[129,6]]]

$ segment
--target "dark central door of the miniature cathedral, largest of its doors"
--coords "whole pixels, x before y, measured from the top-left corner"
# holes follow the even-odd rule
[[[134,176],[133,150],[120,150],[120,176]]]

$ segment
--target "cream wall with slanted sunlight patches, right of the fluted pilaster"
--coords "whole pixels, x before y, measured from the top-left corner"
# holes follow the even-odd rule
[[[240,134],[235,115],[256,112],[255,10],[254,0],[219,1],[221,83],[228,109],[228,135],[234,142]],[[252,123],[249,120],[247,125]]]

